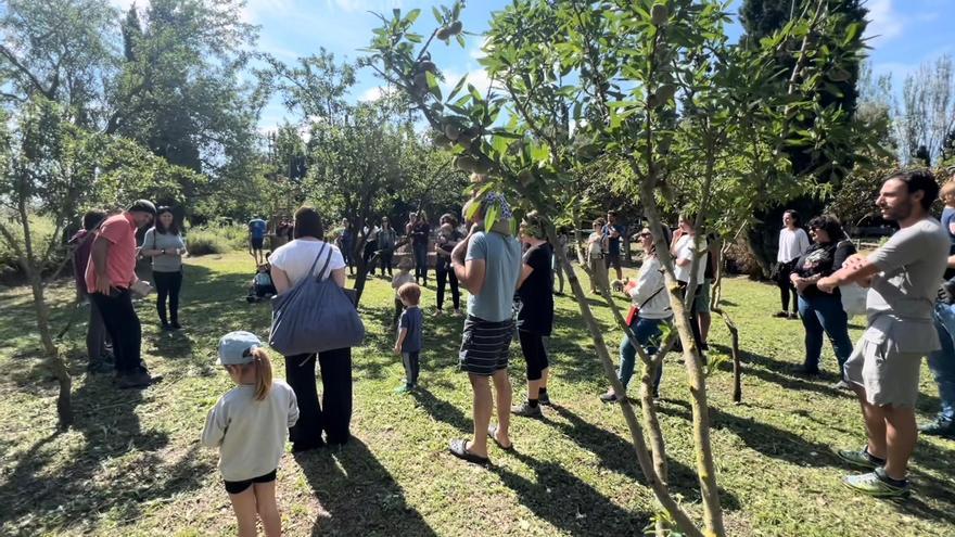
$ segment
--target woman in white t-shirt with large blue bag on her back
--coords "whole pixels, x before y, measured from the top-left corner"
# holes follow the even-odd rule
[[[272,301],[269,344],[285,357],[285,378],[301,411],[290,430],[293,452],[348,442],[351,345],[365,335],[354,302],[344,292],[345,259],[322,236],[321,216],[302,207],[295,212],[293,241],[269,256],[279,293]],[[320,404],[316,362],[321,369]]]

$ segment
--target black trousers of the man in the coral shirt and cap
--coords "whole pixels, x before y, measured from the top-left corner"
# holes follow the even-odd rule
[[[114,295],[92,293],[90,299],[97,304],[100,315],[103,316],[106,333],[113,340],[116,373],[128,374],[145,371],[145,363],[140,357],[142,327],[139,323],[136,309],[132,307],[132,296],[129,294],[129,290],[115,290]]]

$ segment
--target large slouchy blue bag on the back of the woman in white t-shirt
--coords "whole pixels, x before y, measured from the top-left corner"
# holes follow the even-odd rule
[[[328,250],[324,266],[315,267]],[[355,302],[326,274],[332,252],[322,243],[307,272],[292,289],[272,297],[269,345],[283,356],[355,347],[365,340],[365,324]]]

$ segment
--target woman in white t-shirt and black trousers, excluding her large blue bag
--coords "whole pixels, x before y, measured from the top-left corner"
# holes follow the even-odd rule
[[[321,216],[313,207],[295,212],[294,240],[272,252],[269,263],[272,283],[281,294],[304,278],[328,277],[345,286],[345,259],[339,248],[328,244],[322,258],[316,257],[326,243]],[[328,256],[328,257],[327,257]],[[317,272],[328,263],[328,274]],[[313,271],[309,272],[309,269]],[[315,385],[316,362],[321,368],[321,405]],[[351,438],[352,349],[336,348],[285,357],[285,378],[298,399],[298,422],[290,431],[292,451],[301,452],[328,445],[344,445]],[[324,439],[322,439],[324,432]]]

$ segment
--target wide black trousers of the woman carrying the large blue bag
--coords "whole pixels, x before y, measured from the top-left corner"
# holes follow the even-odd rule
[[[345,444],[352,422],[352,349],[336,348],[318,355],[321,404],[315,385],[316,355],[285,357],[285,379],[298,399],[298,422],[289,431],[293,445]]]

